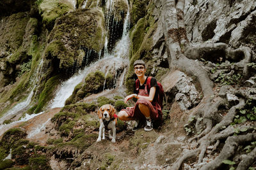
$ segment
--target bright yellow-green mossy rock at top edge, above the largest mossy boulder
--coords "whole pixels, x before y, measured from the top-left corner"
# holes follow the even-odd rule
[[[39,12],[43,18],[43,23],[48,29],[52,29],[56,18],[59,18],[69,11],[73,11],[73,7],[68,1],[44,0],[39,5]]]

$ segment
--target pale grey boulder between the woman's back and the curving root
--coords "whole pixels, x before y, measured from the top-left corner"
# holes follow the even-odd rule
[[[200,96],[191,81],[192,79],[181,71],[167,74],[162,81],[162,85],[168,103],[179,103],[181,110],[195,107],[200,101]]]

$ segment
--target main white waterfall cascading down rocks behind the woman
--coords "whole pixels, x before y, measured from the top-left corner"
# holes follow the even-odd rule
[[[86,6],[87,1],[84,1],[83,6]],[[128,3],[127,3],[128,4]],[[82,8],[83,8],[82,6]],[[107,8],[107,15],[106,15],[106,31],[109,30],[109,16],[111,15],[111,12],[113,11],[113,0],[108,0],[106,3],[106,8]],[[124,71],[122,74],[119,76],[120,80],[117,81],[118,84],[116,84],[116,87],[120,87],[124,84],[124,78],[125,78],[125,73],[127,69],[127,64],[129,63],[128,58],[128,53],[129,53],[129,9],[127,10],[127,15],[124,20],[124,29],[122,33],[122,38],[118,43],[116,44],[116,47],[113,50],[112,54],[109,54],[108,52],[108,38],[106,36],[105,39],[105,52],[104,52],[104,57],[97,62],[94,62],[88,67],[85,67],[83,71],[79,71],[79,74],[76,74],[72,76],[70,79],[67,81],[63,82],[60,89],[56,93],[56,96],[52,100],[51,108],[56,108],[56,107],[63,107],[65,106],[65,101],[67,98],[72,94],[74,87],[78,83],[80,83],[89,73],[92,73],[96,70],[102,71],[106,74],[108,74],[110,71],[113,71],[113,69],[116,71],[115,72],[115,77],[117,78],[117,70],[120,67],[124,67]],[[105,34],[108,34],[108,32],[105,32]],[[89,54],[86,55],[88,57]],[[103,67],[102,67],[103,66]],[[106,76],[106,75],[105,75]],[[106,80],[105,80],[106,81]]]

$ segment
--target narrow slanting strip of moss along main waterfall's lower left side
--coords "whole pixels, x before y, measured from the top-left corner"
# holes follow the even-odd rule
[[[35,113],[39,113],[44,108],[44,106],[52,99],[53,92],[59,83],[60,75],[53,76],[45,83],[44,90],[42,91],[38,99]]]

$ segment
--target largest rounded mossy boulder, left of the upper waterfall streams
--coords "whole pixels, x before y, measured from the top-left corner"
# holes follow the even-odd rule
[[[67,70],[67,73],[73,67],[81,67],[83,59],[86,64],[99,59],[99,52],[104,46],[103,20],[99,9],[76,10],[58,18],[47,40],[45,58],[58,66],[55,69]],[[89,52],[91,55],[86,60],[85,55]]]

